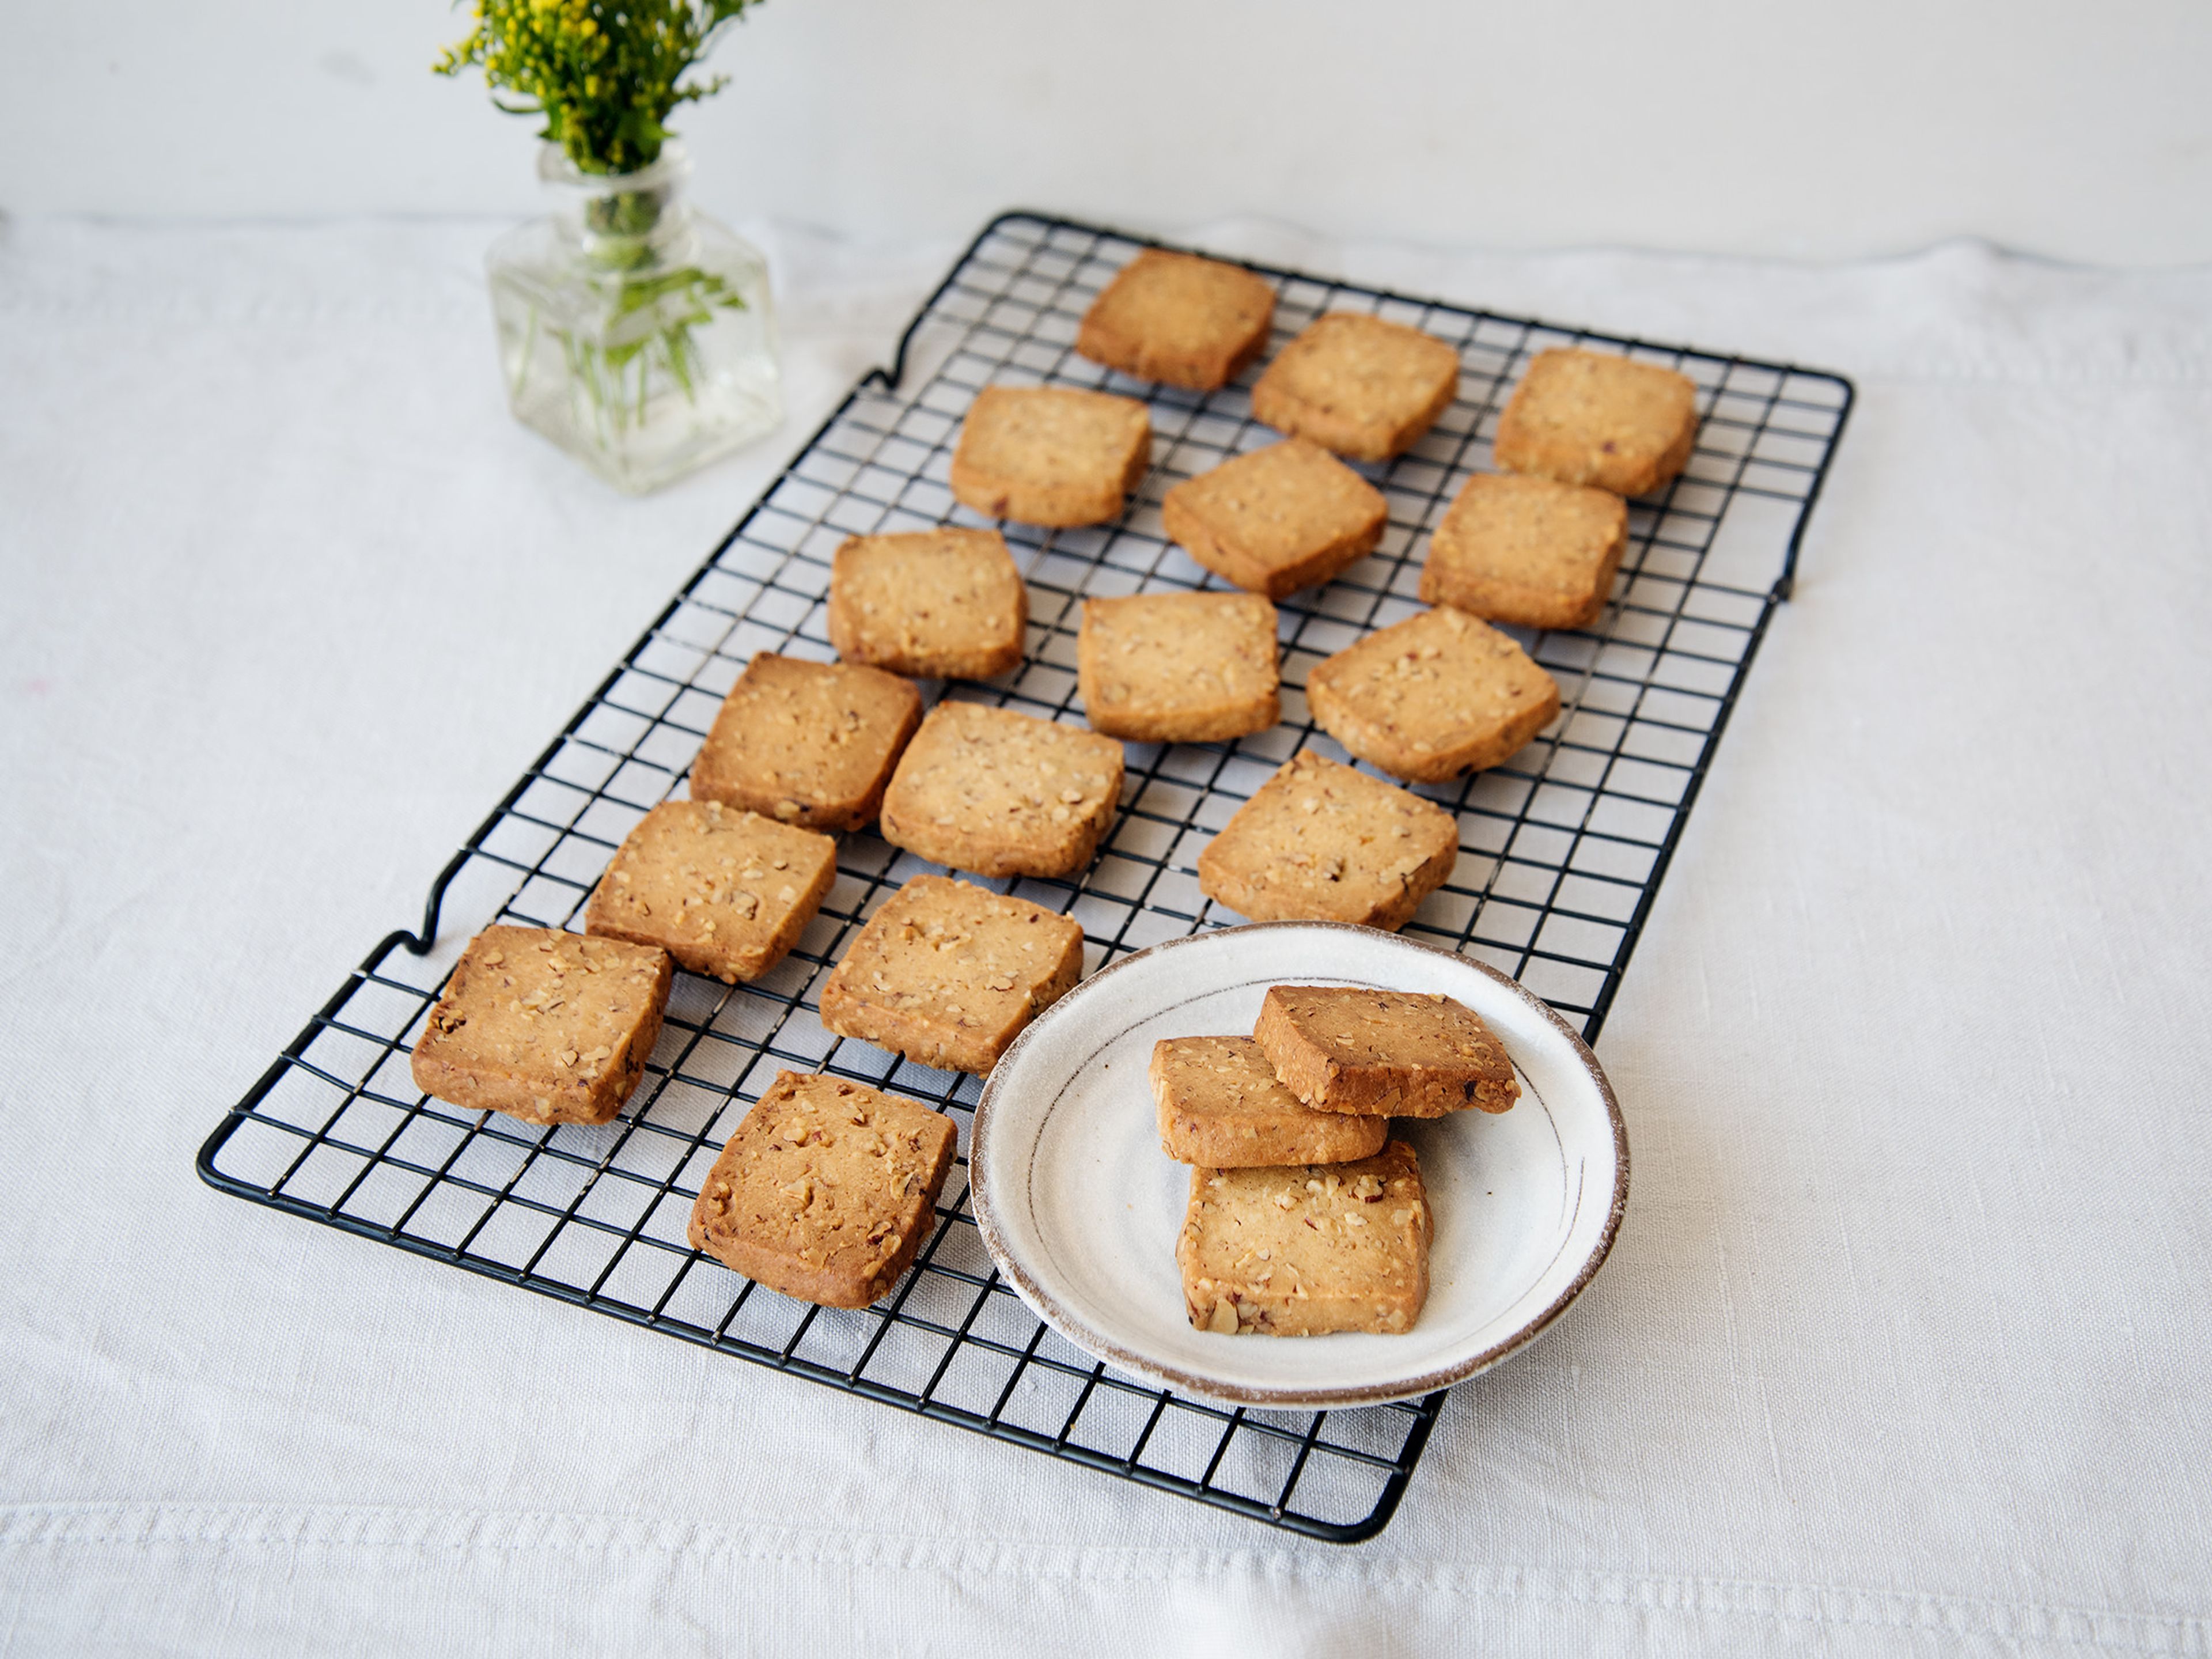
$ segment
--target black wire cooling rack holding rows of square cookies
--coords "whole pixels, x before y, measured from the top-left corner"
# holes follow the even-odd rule
[[[385,938],[199,1152],[237,1197],[398,1245],[723,1354],[905,1407],[1314,1537],[1391,1517],[1442,1394],[1358,1411],[1239,1411],[1164,1394],[1046,1329],[993,1272],[964,1164],[896,1294],[860,1312],[787,1301],[690,1250],[684,1223],[721,1141],[783,1066],[949,1110],[967,1146],[978,1079],[832,1037],[814,993],[847,938],[931,869],[845,836],[838,880],[799,949],[754,984],[677,975],[646,1082],[604,1126],[533,1128],[427,1099],[409,1035],[460,945],[487,922],[577,929],[622,836],[686,779],[723,692],[757,650],[834,657],[830,555],[849,533],[980,522],[947,491],[960,418],[987,383],[1110,387],[1152,409],[1152,471],[1115,524],[1006,524],[1031,593],[1029,655],[949,695],[1048,719],[1075,712],[1086,595],[1221,586],[1161,535],[1170,484],[1272,442],[1252,374],[1214,394],[1152,387],[1073,354],[1075,327],[1141,237],[1011,212],[960,257],[878,369],[668,602],[591,701],[431,887],[420,933]],[[1595,1040],[1774,606],[1851,407],[1834,374],[1661,347],[1407,299],[1298,272],[1276,285],[1274,345],[1329,310],[1411,323],[1460,349],[1460,398],[1409,453],[1363,469],[1389,498],[1383,546],[1279,602],[1283,723],[1234,743],[1128,745],[1113,834],[1075,880],[1000,889],[1075,916],[1086,971],[1219,927],[1197,854],[1298,745],[1347,759],[1305,710],[1307,670],[1418,611],[1425,538],[1489,465],[1498,411],[1533,352],[1595,343],[1699,385],[1697,453],[1630,504],[1628,555],[1599,624],[1515,630],[1559,681],[1562,712],[1506,765],[1422,787],[1458,812],[1460,863],[1407,933],[1537,991]],[[911,383],[911,392],[907,389]],[[445,922],[440,931],[440,920]],[[1011,1471],[1009,1471],[1011,1473]]]

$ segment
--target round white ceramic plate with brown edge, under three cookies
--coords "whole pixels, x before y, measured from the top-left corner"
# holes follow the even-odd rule
[[[1402,1336],[1217,1336],[1183,1312],[1190,1170],[1159,1150],[1146,1066],[1159,1037],[1250,1033],[1270,984],[1444,991],[1520,1073],[1509,1113],[1391,1126],[1436,1214]],[[1582,1037],[1495,969],[1369,927],[1254,922],[1155,945],[1046,1009],[984,1084],[969,1192],[1022,1301],[1108,1365],[1230,1405],[1380,1405],[1489,1369],[1582,1294],[1628,1201],[1628,1135]]]

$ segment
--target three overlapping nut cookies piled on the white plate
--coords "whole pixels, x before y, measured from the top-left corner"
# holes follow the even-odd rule
[[[1192,1166],[1183,1305],[1221,1336],[1411,1329],[1436,1221],[1389,1119],[1520,1097],[1451,998],[1312,984],[1272,987],[1250,1037],[1161,1040],[1150,1082],[1161,1150]]]

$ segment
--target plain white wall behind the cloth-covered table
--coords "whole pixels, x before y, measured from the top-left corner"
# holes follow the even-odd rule
[[[529,212],[440,0],[0,0],[0,210]],[[858,239],[1170,228],[2212,259],[2205,0],[772,0],[699,195]]]

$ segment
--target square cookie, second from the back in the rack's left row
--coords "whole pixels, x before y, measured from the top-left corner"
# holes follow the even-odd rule
[[[953,498],[984,518],[1068,529],[1121,515],[1152,465],[1152,416],[1135,398],[987,385],[953,449]]]

